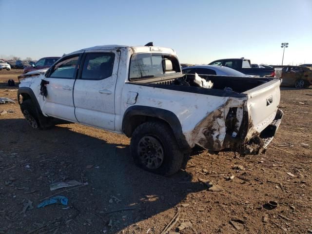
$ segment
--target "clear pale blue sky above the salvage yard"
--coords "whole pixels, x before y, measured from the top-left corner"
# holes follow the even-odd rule
[[[312,0],[0,0],[0,57],[104,44],[174,48],[181,62],[312,63]]]

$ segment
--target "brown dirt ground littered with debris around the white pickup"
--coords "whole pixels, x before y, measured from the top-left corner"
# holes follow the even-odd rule
[[[0,97],[17,98],[6,81],[20,73],[0,71]],[[284,117],[266,154],[202,152],[162,177],[135,166],[127,137],[78,124],[34,130],[17,102],[2,104],[0,234],[159,234],[178,210],[171,231],[181,234],[312,232],[311,106],[312,87],[282,88]],[[50,191],[67,180],[85,185]],[[37,208],[55,194],[68,205]]]

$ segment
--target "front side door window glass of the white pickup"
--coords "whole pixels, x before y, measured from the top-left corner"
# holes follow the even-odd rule
[[[78,64],[79,56],[73,56],[59,61],[55,66],[49,77],[51,78],[75,78],[74,74]]]

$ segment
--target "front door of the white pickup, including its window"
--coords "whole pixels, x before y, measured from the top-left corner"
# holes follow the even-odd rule
[[[48,72],[45,81],[47,97],[42,112],[48,116],[77,122],[73,100],[75,78],[80,55],[72,55],[59,60]]]

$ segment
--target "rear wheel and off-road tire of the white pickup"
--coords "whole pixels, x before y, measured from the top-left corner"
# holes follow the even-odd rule
[[[148,162],[144,162],[146,159],[144,159],[144,156],[142,155],[142,147],[144,148],[146,146],[142,144],[142,140],[145,142],[144,140],[146,138],[153,139],[152,148],[154,143],[158,141],[159,147],[157,145],[155,149],[162,149],[163,160],[161,163],[158,163],[160,166],[157,168],[149,168],[146,165]],[[171,176],[175,174],[181,168],[184,158],[184,154],[179,150],[176,137],[171,128],[165,123],[157,121],[145,122],[136,128],[131,138],[130,150],[135,163],[139,167],[162,176]],[[153,149],[149,152],[153,152]],[[150,154],[152,156],[155,155],[153,153]]]

